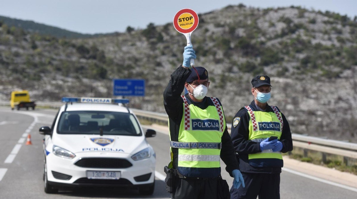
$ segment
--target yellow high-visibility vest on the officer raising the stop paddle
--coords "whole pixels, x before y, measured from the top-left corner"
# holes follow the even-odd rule
[[[178,148],[178,172],[186,177],[217,177],[221,172],[221,137],[226,127],[222,107],[213,97],[212,106],[206,109],[188,104],[186,97],[181,97],[183,116],[178,141],[170,143],[170,147]]]

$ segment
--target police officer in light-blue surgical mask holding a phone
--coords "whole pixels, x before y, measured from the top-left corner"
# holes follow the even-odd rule
[[[246,186],[231,188],[231,199],[279,199],[281,153],[292,150],[290,127],[278,107],[267,103],[270,78],[259,75],[252,86],[254,100],[232,122],[231,137]]]

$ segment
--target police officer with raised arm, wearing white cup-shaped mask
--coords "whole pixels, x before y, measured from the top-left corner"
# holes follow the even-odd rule
[[[244,187],[244,182],[222,105],[218,98],[206,96],[210,85],[208,72],[203,67],[191,67],[191,58],[196,58],[195,51],[186,46],[183,64],[171,74],[164,91],[171,139],[169,168],[175,171],[172,194],[175,199],[217,199],[222,197],[218,192],[224,190],[220,158],[234,177],[233,187]],[[181,96],[184,87],[188,93]],[[229,199],[229,187],[225,184]]]

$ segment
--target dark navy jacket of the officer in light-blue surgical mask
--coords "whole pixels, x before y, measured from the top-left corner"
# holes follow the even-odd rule
[[[254,100],[250,104],[250,107],[253,111],[259,111],[255,106]],[[274,112],[268,104],[266,105],[266,109],[263,111]],[[284,124],[280,137],[280,142],[283,144],[281,152],[286,153],[292,150],[292,138],[289,123],[283,113],[281,113],[281,116]],[[250,115],[247,109],[244,107],[241,108],[237,112],[235,118],[236,117],[240,117],[240,121],[236,127],[234,127],[232,123],[231,137],[234,149],[239,156],[240,171],[247,173],[281,173],[281,167],[253,167],[249,164],[248,154],[260,153],[260,145],[258,142],[248,141]]]

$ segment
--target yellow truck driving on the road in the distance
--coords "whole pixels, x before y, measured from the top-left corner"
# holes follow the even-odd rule
[[[15,107],[17,110],[20,110],[20,108],[26,108],[26,110],[28,110],[29,107],[32,107],[32,110],[34,110],[36,104],[34,101],[31,102],[29,91],[22,90],[11,92],[10,106],[11,110],[14,110]]]

